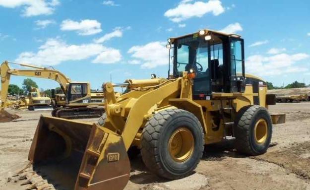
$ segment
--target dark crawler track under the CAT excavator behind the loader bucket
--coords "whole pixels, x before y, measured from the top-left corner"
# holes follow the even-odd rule
[[[63,119],[83,119],[99,118],[103,113],[105,113],[105,109],[98,107],[56,108],[52,111],[52,116]]]

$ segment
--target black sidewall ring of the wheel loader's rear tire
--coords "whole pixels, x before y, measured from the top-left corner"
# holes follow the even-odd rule
[[[259,144],[256,142],[255,140],[255,124],[260,120],[260,119],[264,119],[267,123],[267,138],[265,140],[264,143]],[[272,122],[271,122],[271,118],[268,114],[268,112],[265,109],[259,108],[255,114],[253,115],[253,119],[250,123],[250,127],[249,127],[249,142],[250,142],[250,146],[252,148],[252,150],[254,150],[255,152],[261,154],[267,151],[270,141],[271,141],[271,137],[272,137]]]

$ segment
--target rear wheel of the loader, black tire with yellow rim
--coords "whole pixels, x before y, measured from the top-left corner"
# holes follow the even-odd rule
[[[272,136],[272,122],[268,111],[258,105],[242,108],[237,114],[234,134],[237,151],[252,156],[265,153]]]

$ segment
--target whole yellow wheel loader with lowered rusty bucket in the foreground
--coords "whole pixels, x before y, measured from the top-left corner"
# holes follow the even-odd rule
[[[168,78],[105,83],[106,113],[97,124],[41,117],[29,160],[48,187],[122,190],[131,147],[150,171],[172,180],[193,172],[206,144],[234,139],[240,153],[266,152],[272,121],[284,122],[283,115],[268,112],[275,96],[266,94],[266,82],[245,74],[244,40],[201,30],[168,42]],[[127,93],[116,97],[120,86]]]

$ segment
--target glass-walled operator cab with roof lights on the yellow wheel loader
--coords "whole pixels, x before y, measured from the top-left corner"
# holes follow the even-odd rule
[[[240,36],[201,30],[168,42],[173,45],[173,75],[180,77],[187,71],[193,79],[193,99],[245,91],[244,40]]]

